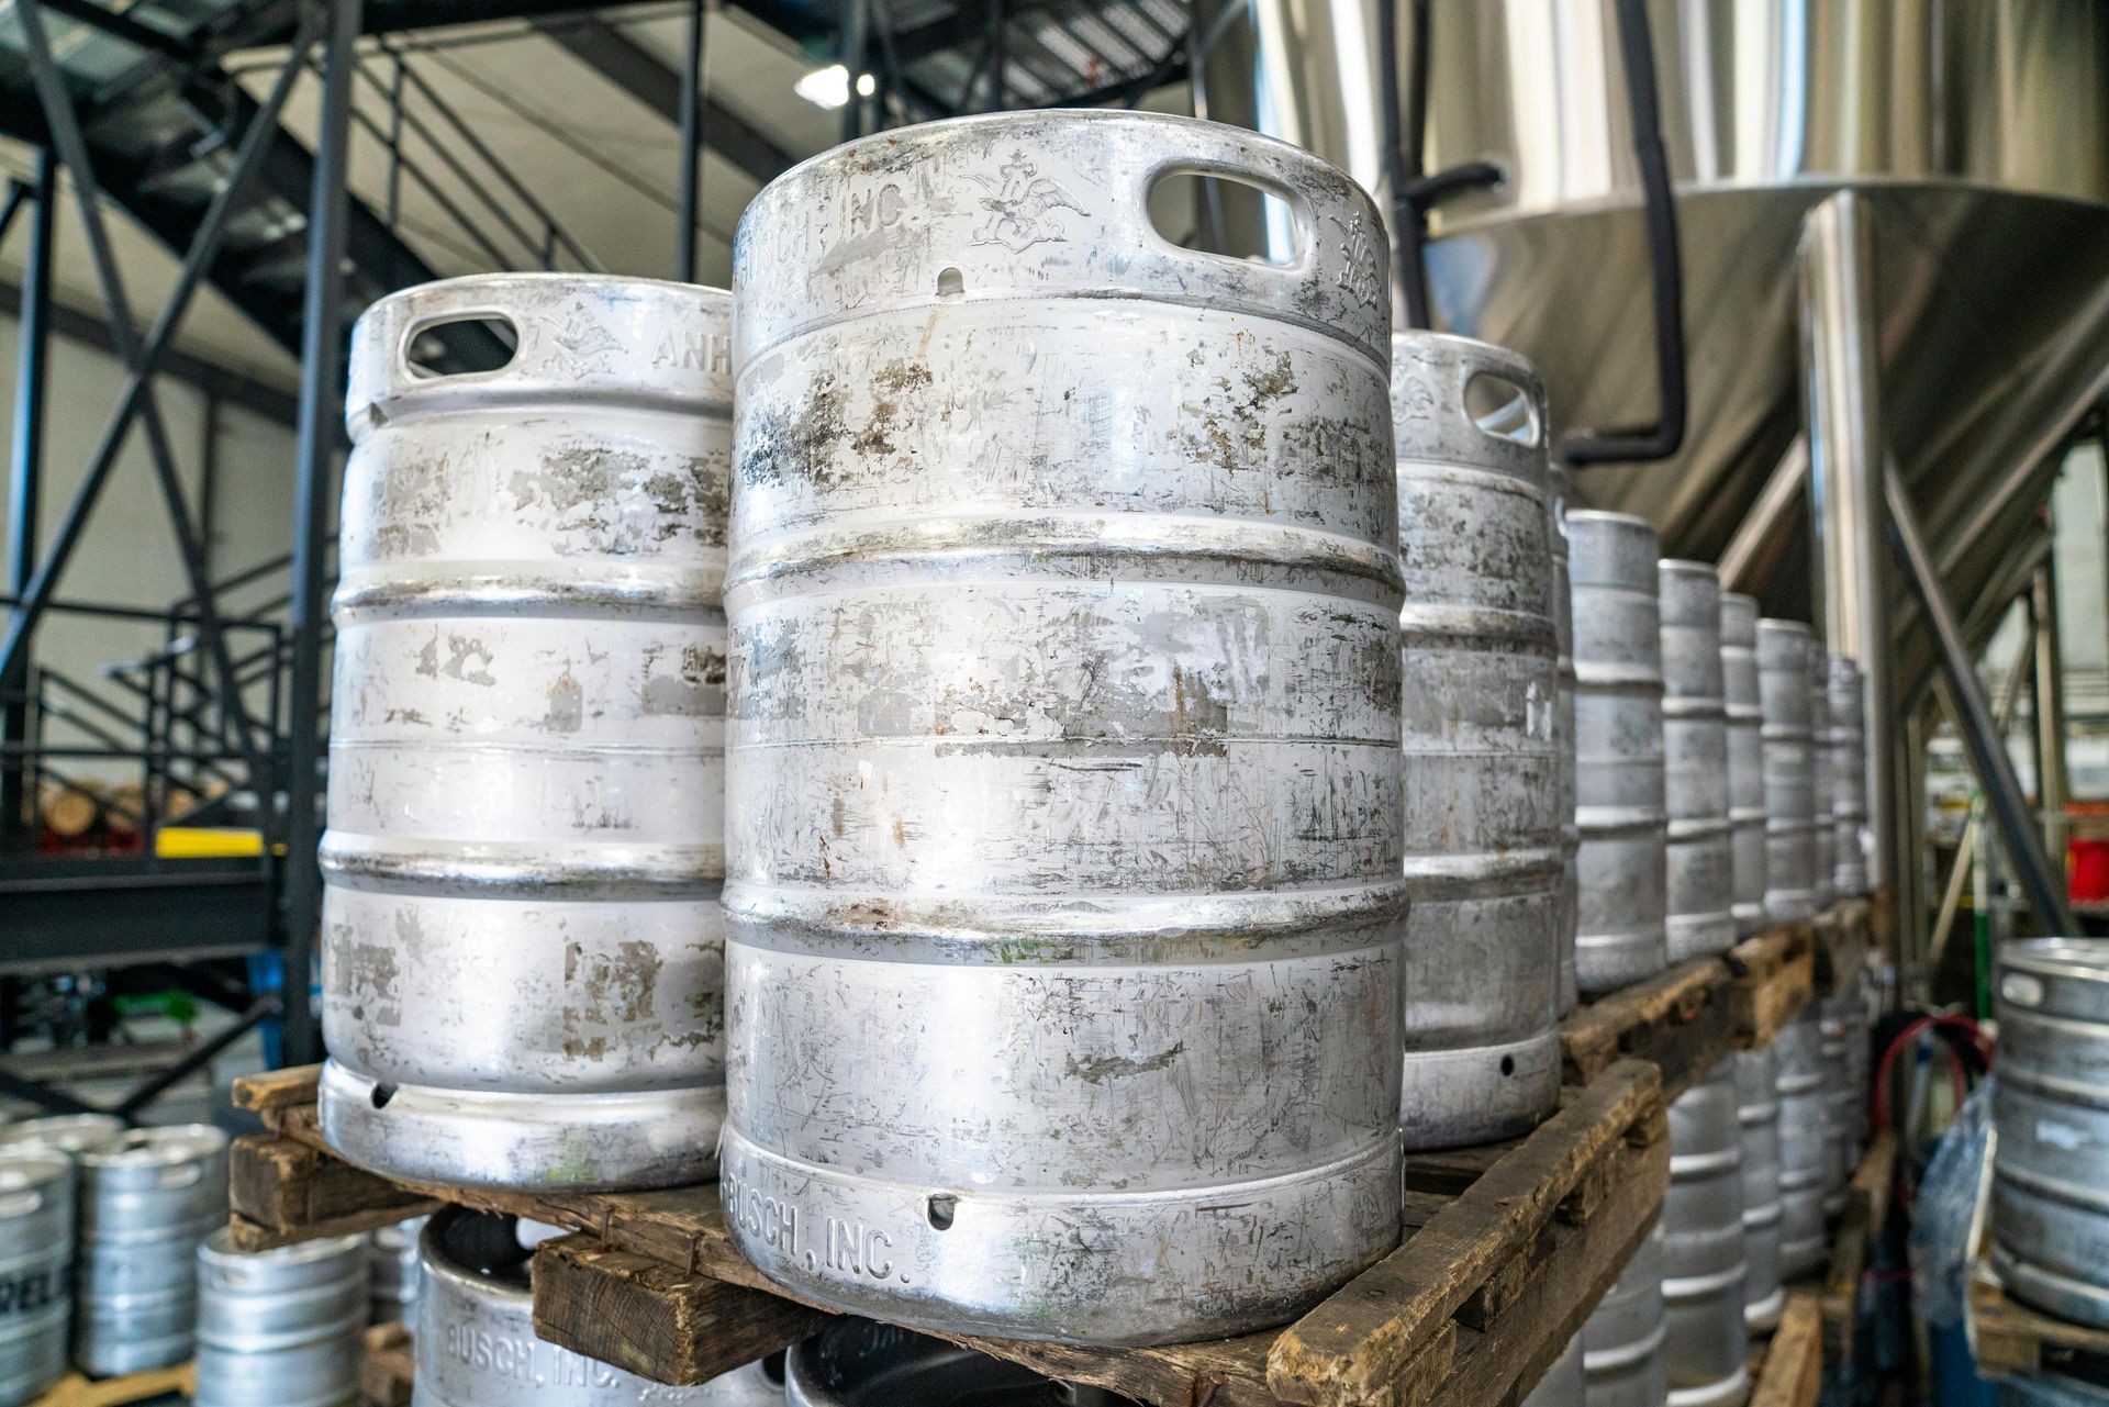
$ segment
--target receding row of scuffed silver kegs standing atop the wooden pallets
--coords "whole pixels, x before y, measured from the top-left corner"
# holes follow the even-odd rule
[[[1168,243],[1192,171],[1301,253]],[[732,293],[375,304],[329,1143],[715,1177],[909,1325],[1227,1335],[1396,1247],[1402,1145],[1544,1118],[1575,989],[1864,888],[1850,662],[1563,534],[1537,373],[1394,338],[1381,230],[1246,131],[991,114],[774,181]]]

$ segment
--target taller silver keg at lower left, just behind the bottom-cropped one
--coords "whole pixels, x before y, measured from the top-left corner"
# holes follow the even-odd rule
[[[190,1356],[198,1242],[228,1219],[228,1135],[133,1129],[80,1154],[74,1367],[95,1377]]]

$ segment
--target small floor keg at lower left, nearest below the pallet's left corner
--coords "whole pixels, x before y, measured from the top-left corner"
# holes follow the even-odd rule
[[[243,1253],[198,1247],[194,1407],[352,1407],[367,1329],[367,1238]]]

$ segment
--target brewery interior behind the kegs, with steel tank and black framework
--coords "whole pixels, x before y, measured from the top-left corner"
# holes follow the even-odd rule
[[[1860,660],[1879,1002],[1989,1023],[2008,943],[2109,932],[2094,0],[0,0],[0,1112],[238,1133],[236,1078],[323,1055],[365,306],[730,287],[797,162],[1019,108],[1339,165],[1405,255],[1396,325],[1544,373],[1571,506]],[[1196,192],[1166,238],[1282,253],[1261,192]],[[1955,1105],[1913,1088],[1915,1183]],[[1904,1314],[1900,1232],[1869,1276]],[[1955,1339],[1921,1321],[1826,1392],[1961,1401]]]

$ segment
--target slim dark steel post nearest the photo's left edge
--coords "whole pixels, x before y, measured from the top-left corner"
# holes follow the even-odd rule
[[[21,597],[36,574],[36,519],[44,502],[44,388],[51,375],[51,257],[57,240],[59,160],[44,148],[36,156],[36,186],[30,192],[30,257],[21,274],[21,325],[15,354],[15,454],[8,477],[6,591]],[[0,848],[27,844],[23,804],[30,797],[30,660],[34,639],[23,637],[21,656],[0,679]]]

